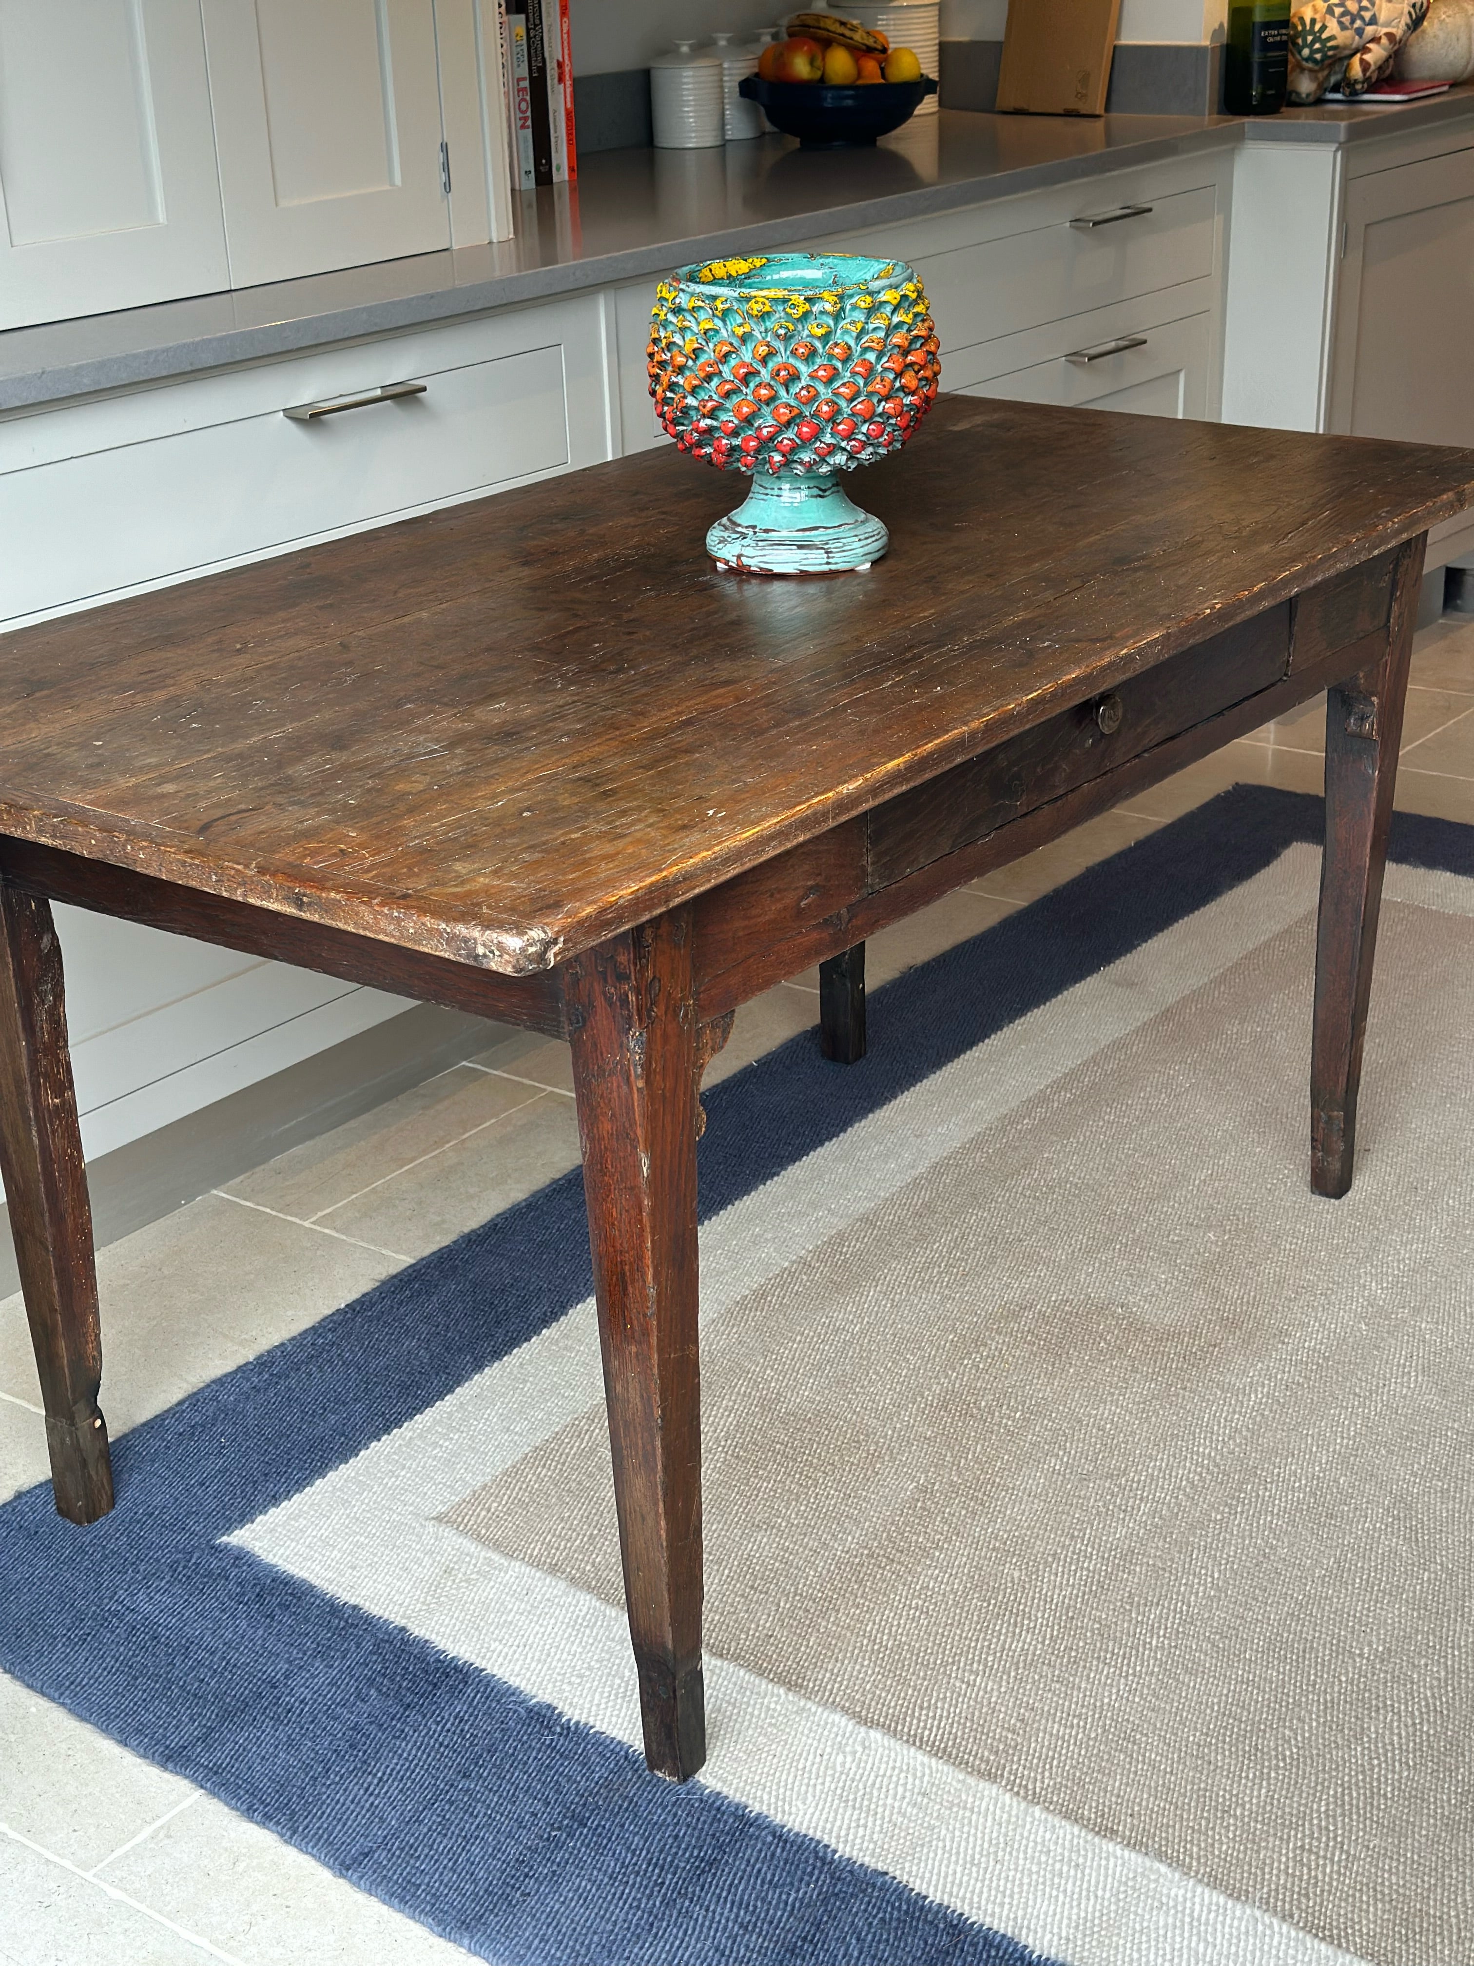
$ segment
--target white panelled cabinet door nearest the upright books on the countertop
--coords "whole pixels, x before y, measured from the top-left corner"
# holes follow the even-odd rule
[[[432,0],[204,0],[230,283],[450,244]]]

